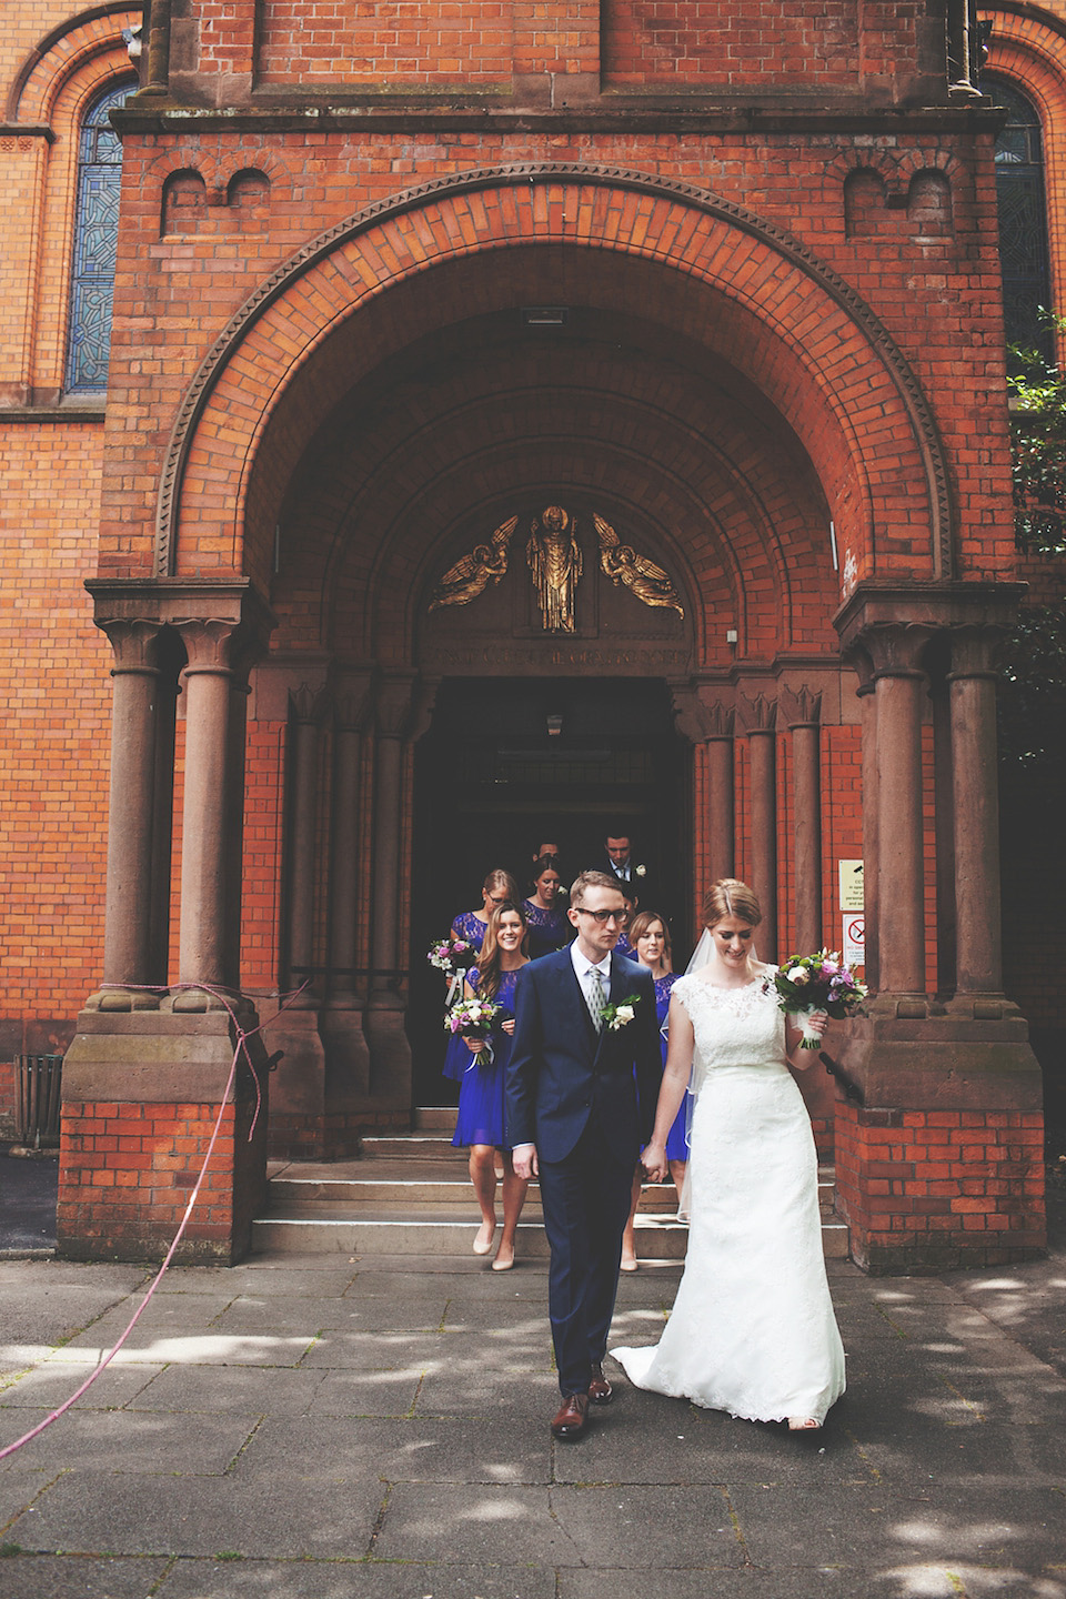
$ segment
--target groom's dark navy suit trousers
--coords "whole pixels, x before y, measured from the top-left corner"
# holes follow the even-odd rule
[[[593,1124],[564,1161],[540,1161],[548,1314],[564,1394],[587,1393],[607,1350],[634,1169],[636,1151],[619,1161]]]

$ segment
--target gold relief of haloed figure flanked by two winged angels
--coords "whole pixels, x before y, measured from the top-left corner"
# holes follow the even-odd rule
[[[630,544],[622,544],[609,521],[593,512],[599,539],[599,569],[615,587],[628,588],[641,604],[668,608],[684,616],[670,577]],[[511,536],[518,516],[500,523],[487,544],[475,544],[436,584],[430,611],[449,604],[470,604],[507,572]],[[545,633],[577,632],[577,585],[582,577],[582,548],[575,518],[561,505],[548,505],[529,526],[526,563],[537,593],[540,625]]]

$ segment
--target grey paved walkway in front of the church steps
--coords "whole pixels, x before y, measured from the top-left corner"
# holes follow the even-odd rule
[[[174,1270],[77,1409],[0,1461],[0,1594],[1066,1599],[1066,1249],[954,1279],[829,1270],[849,1393],[821,1434],[620,1378],[577,1445],[548,1434],[542,1265]],[[623,1278],[619,1338],[655,1337],[678,1274]],[[0,1445],[145,1281],[0,1262]]]

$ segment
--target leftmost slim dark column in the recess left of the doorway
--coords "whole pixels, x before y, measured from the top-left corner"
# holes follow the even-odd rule
[[[318,817],[318,744],[326,700],[323,694],[302,684],[289,694],[289,892],[288,892],[288,956],[289,988],[312,979],[315,959],[315,823]],[[289,1009],[312,1011],[316,1006],[313,982]]]

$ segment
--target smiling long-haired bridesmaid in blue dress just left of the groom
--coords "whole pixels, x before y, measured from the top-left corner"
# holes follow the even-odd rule
[[[503,1132],[503,1081],[515,1031],[515,979],[529,964],[529,927],[526,911],[513,900],[503,900],[489,916],[484,943],[475,971],[467,974],[468,998],[479,995],[500,1006],[492,1023],[492,1060],[481,1063],[467,1052],[467,1070],[459,1086],[459,1118],[455,1148],[470,1150],[470,1182],[481,1207],[481,1226],[473,1241],[475,1255],[487,1255],[495,1234],[495,1156],[503,1161],[503,1233],[492,1262],[494,1271],[510,1271],[515,1265],[515,1230],[523,1214],[529,1183],[515,1175],[511,1151]],[[476,1041],[473,1041],[476,1043]]]

